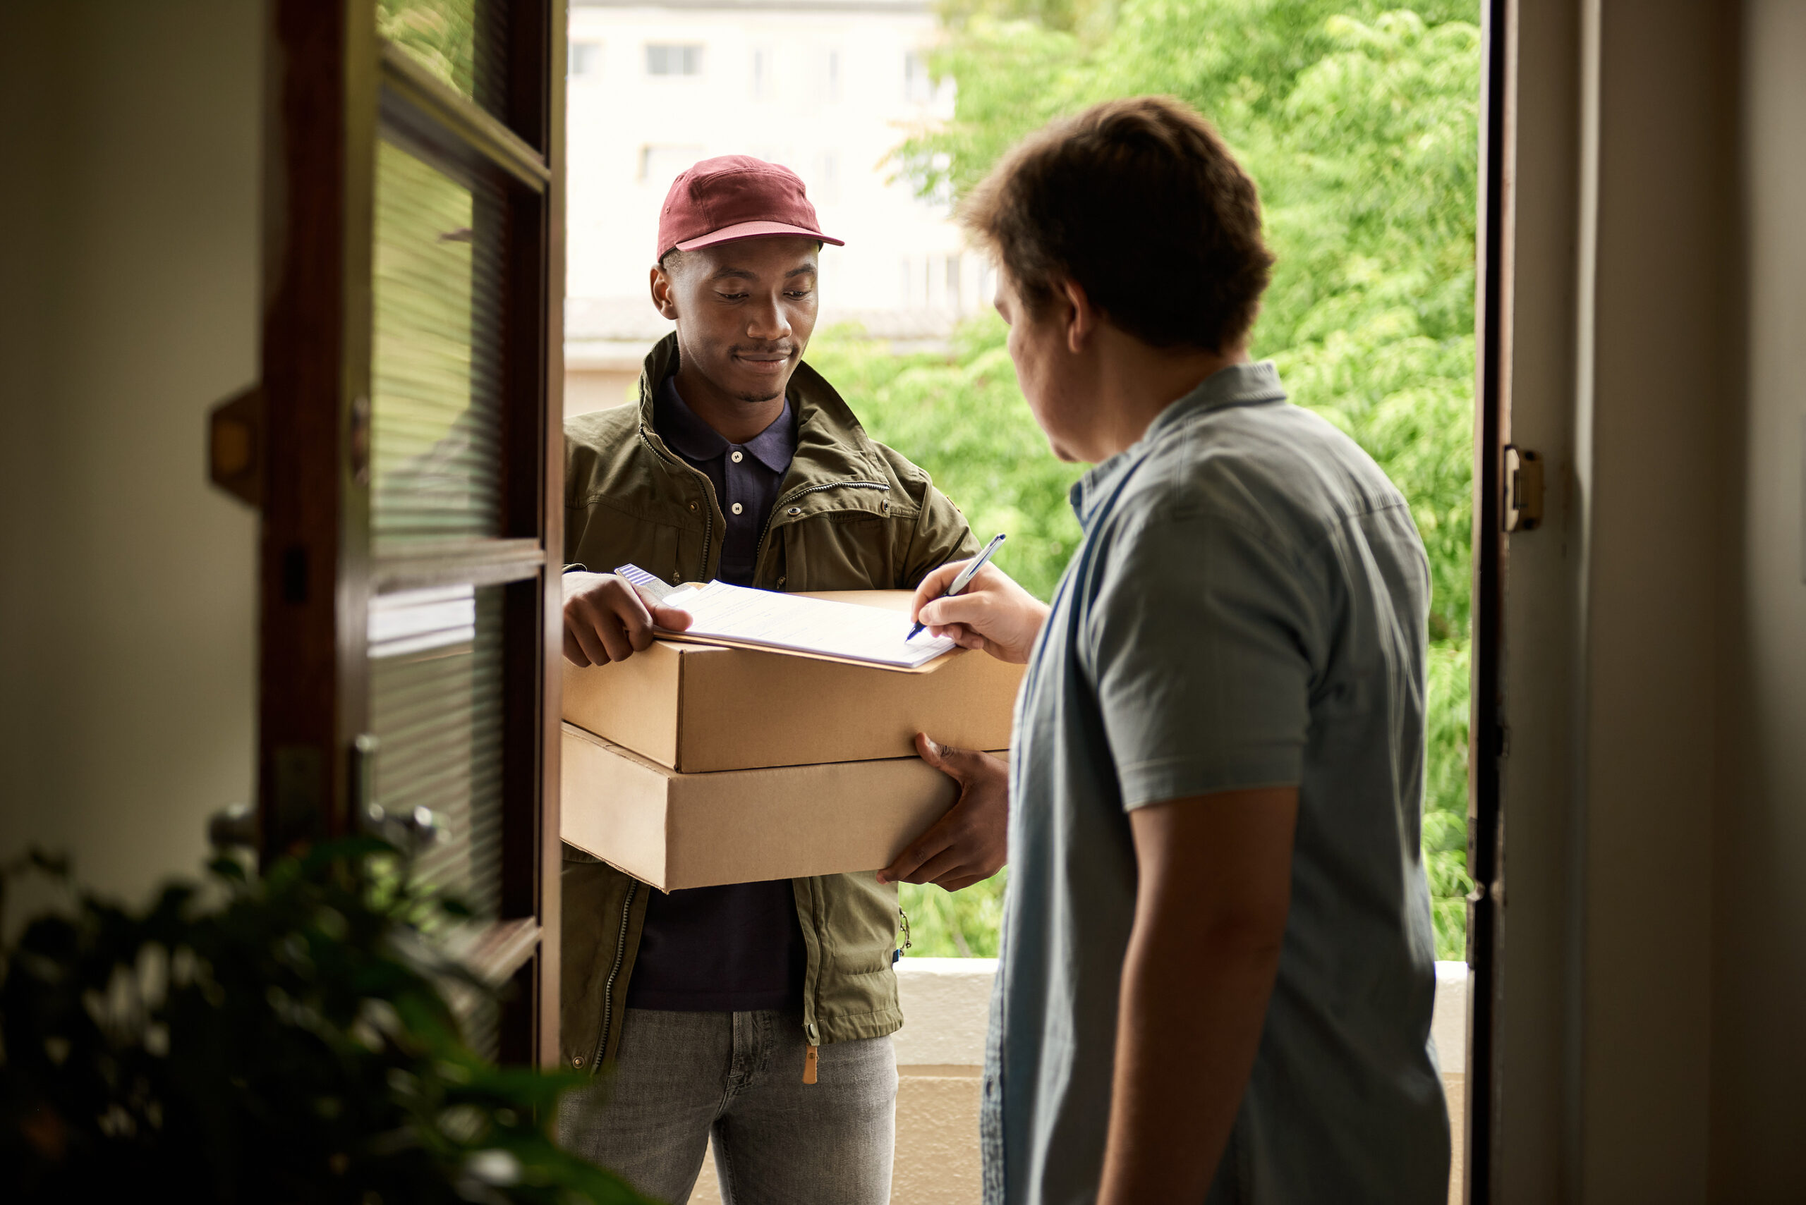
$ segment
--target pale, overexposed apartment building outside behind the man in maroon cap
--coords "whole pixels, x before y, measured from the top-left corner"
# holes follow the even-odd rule
[[[952,117],[928,0],[578,0],[569,51],[571,413],[616,404],[668,330],[647,301],[659,206],[712,155],[782,162],[824,229],[822,319],[914,346],[988,303],[941,198],[892,159]]]

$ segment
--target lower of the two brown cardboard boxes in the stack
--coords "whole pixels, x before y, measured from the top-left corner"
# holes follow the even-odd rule
[[[563,839],[654,888],[890,864],[957,799],[919,758],[681,774],[563,725]]]

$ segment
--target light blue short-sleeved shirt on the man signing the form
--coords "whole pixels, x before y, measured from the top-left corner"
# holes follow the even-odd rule
[[[1429,565],[1378,465],[1212,375],[1073,487],[1084,539],[1017,702],[984,1081],[988,1205],[1096,1196],[1132,808],[1297,785],[1291,909],[1212,1205],[1448,1198],[1423,877]]]

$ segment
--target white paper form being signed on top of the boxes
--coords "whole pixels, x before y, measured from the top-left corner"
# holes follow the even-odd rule
[[[946,637],[928,639],[926,633],[910,640],[903,612],[748,590],[724,581],[672,590],[665,606],[690,612],[694,622],[677,633],[683,637],[713,637],[896,669],[916,669],[954,648]]]

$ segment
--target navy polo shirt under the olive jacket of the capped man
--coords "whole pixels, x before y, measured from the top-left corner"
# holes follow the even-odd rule
[[[666,377],[652,402],[665,446],[708,476],[728,521],[717,577],[753,584],[759,538],[796,455],[789,399],[777,420],[730,444],[697,419]],[[789,878],[654,891],[627,981],[628,1008],[675,1012],[800,1010],[809,954]]]

